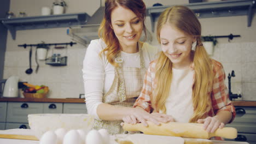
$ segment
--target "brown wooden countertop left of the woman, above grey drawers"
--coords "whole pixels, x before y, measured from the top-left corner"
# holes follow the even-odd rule
[[[85,103],[85,99],[66,98],[66,99],[51,99],[51,98],[0,98],[1,101],[9,102],[39,102],[39,103]]]

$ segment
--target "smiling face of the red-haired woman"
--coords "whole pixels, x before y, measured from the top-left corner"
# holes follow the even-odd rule
[[[143,30],[143,22],[133,11],[123,7],[111,13],[111,24],[122,47],[137,46]]]

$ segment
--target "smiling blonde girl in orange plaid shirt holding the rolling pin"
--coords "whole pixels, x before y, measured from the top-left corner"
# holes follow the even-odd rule
[[[162,52],[150,63],[134,107],[166,113],[174,122],[203,123],[211,133],[230,123],[235,110],[224,69],[207,55],[193,11],[183,6],[166,9],[158,20],[157,37]],[[130,117],[124,122],[131,123]]]

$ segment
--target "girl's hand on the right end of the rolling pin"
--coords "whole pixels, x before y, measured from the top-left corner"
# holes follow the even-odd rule
[[[203,123],[203,129],[208,133],[214,133],[218,128],[224,128],[225,124],[220,122],[217,116],[198,119],[197,123]]]

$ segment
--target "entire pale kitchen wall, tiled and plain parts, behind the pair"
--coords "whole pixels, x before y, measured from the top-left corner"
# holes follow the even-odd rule
[[[209,0],[210,1],[210,0]],[[10,10],[15,14],[19,11],[25,11],[27,15],[40,15],[40,8],[43,6],[50,7],[54,1],[52,0],[10,0]],[[103,1],[77,0],[67,1],[68,8],[66,13],[86,12],[92,15]],[[154,3],[162,3],[164,5],[185,4],[188,0],[176,1],[156,1],[145,0],[147,7],[151,7]],[[224,65],[226,76],[235,70],[236,77],[232,77],[232,92],[241,93],[243,100],[256,100],[256,32],[255,17],[252,26],[247,27],[247,16],[219,17],[200,19],[202,24],[202,35],[229,35],[240,34],[241,38],[234,38],[230,42],[227,38],[218,39],[218,44],[214,47],[212,57],[222,62]],[[151,31],[150,19],[147,17],[146,26]],[[28,50],[18,47],[18,44],[37,44],[41,40],[46,43],[66,43],[71,41],[71,37],[66,34],[67,28],[51,28],[36,29],[27,31],[17,31],[16,40],[11,39],[8,32],[7,50],[5,53],[4,63],[4,79],[11,75],[18,75],[22,81],[28,81],[35,85],[47,85],[50,88],[50,98],[78,98],[80,93],[84,93],[82,80],[83,58],[86,47],[80,44],[68,46],[64,50],[56,50],[51,47],[48,56],[52,53],[61,53],[62,56],[68,57],[68,63],[65,67],[52,67],[39,62],[40,67],[38,73],[31,75],[25,74],[28,68]],[[152,44],[159,47],[154,39]],[[35,70],[36,63],[34,61],[34,51],[32,56],[32,68]],[[226,79],[228,84],[228,79]],[[227,85],[228,86],[228,85]]]

